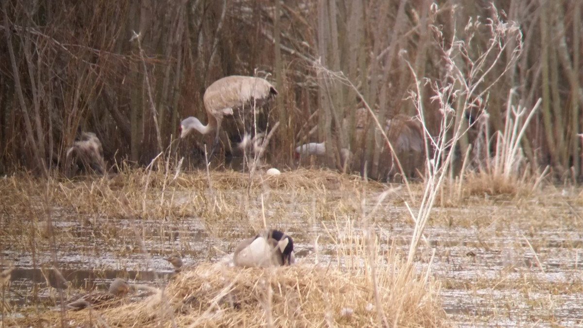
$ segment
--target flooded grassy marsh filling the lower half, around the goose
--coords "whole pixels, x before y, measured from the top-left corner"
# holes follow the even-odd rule
[[[2,258],[14,263],[10,282],[3,285],[6,326],[59,326],[61,313],[49,311],[60,303],[59,290],[70,296],[104,289],[116,277],[167,286],[163,289],[167,301],[155,304],[169,307],[172,319],[159,315],[144,323],[152,326],[172,326],[172,320],[178,326],[583,323],[583,202],[578,189],[547,186],[522,196],[442,197],[448,201],[441,202],[444,206],[438,202],[431,212],[413,272],[403,274],[399,270],[405,270],[403,259],[414,227],[408,206],[413,212],[419,206],[420,184],[412,185],[415,200],[411,200],[402,185],[364,182],[328,171],[253,179],[242,173],[212,172],[210,188],[206,173],[185,173],[172,181],[143,176],[0,180]],[[448,190],[443,193],[447,196]],[[278,271],[269,275],[213,266],[240,240],[265,227],[293,237],[296,266],[274,269]],[[182,254],[187,267],[180,274],[164,260],[173,252]],[[274,282],[273,277],[282,273],[286,278]],[[258,282],[247,284],[254,278]],[[239,281],[238,289],[234,281]],[[413,281],[422,284],[418,287]],[[255,307],[245,303],[251,302],[245,293],[258,292],[265,283],[272,285],[271,301]],[[197,293],[220,291],[226,285],[234,296],[225,295],[239,301],[205,308],[216,299],[202,296],[209,292]],[[402,288],[405,285],[410,289]],[[397,295],[401,290],[397,287],[403,295],[419,294],[408,302],[425,311],[423,319],[406,319],[405,312],[395,319],[389,308],[373,309],[407,296]],[[285,299],[283,308],[278,308],[280,297]],[[115,310],[154,306],[145,298],[132,296],[122,308],[103,312],[104,320],[109,318],[113,325]],[[191,312],[194,304],[205,316]],[[257,312],[257,306],[262,310]],[[309,312],[311,306],[321,308],[322,315]],[[300,309],[303,312],[297,315]],[[66,315],[84,322],[82,312]],[[225,319],[219,315],[233,317],[220,321]]]

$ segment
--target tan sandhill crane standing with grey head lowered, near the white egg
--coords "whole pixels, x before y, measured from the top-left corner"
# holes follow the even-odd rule
[[[208,123],[203,125],[198,118],[192,116],[185,118],[180,124],[180,138],[186,137],[193,129],[201,134],[215,131],[215,139],[210,151],[212,155],[219,144],[219,132],[224,117],[231,116],[244,120],[244,117],[250,114],[257,114],[255,108],[263,106],[277,94],[275,87],[262,78],[233,75],[218,79],[206,88],[203,96]],[[251,117],[252,122],[255,123],[255,116]],[[237,133],[242,137],[245,131],[240,131],[238,127],[237,129],[239,130]]]

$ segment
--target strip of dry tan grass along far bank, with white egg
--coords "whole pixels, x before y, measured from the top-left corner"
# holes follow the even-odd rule
[[[301,196],[307,190],[325,192],[384,188],[380,183],[365,183],[358,176],[332,170],[300,169],[282,172],[279,176],[267,176],[257,171],[251,179],[248,173],[234,171],[212,171],[209,174],[210,183],[204,171],[179,172],[176,175],[175,172],[145,169],[128,169],[113,177],[87,176],[73,180],[9,177],[0,181],[0,191],[5,191],[0,195],[0,200],[4,206],[10,207],[7,210],[10,213],[29,212],[31,205],[41,207],[48,201],[57,207],[71,208],[76,214],[127,217],[131,212],[138,218],[181,218],[212,211],[212,204],[215,203],[220,204],[221,208],[238,208],[243,198],[254,199],[268,190],[290,191]],[[237,197],[219,197],[223,191],[229,190],[236,191]],[[188,199],[187,204],[185,199]],[[225,202],[228,204],[223,204]],[[120,211],[121,203],[131,211],[125,214]],[[193,212],[194,209],[198,211]]]

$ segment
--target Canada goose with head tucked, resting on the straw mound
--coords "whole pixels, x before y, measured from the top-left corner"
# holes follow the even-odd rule
[[[293,239],[278,230],[243,240],[233,254],[233,263],[240,267],[289,266],[294,261]]]

